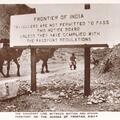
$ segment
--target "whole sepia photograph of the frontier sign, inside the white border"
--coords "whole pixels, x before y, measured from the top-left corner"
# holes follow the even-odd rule
[[[120,4],[0,4],[0,112],[120,112]]]

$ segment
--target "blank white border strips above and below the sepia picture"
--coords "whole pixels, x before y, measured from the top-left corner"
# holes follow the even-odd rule
[[[0,4],[53,4],[53,3],[120,3],[120,0],[0,0]],[[120,112],[97,112],[97,118],[87,118],[87,120],[120,120]],[[15,118],[15,112],[0,112],[0,120],[33,120],[29,118]],[[41,118],[35,118],[34,120],[40,120]],[[53,118],[52,118],[53,119]],[[44,120],[44,119],[43,119]],[[45,120],[50,120],[45,119]],[[54,118],[54,120],[56,120]],[[61,120],[61,119],[59,119]],[[63,120],[63,119],[62,119]],[[69,119],[69,120],[80,120]],[[85,120],[81,118],[81,120]]]

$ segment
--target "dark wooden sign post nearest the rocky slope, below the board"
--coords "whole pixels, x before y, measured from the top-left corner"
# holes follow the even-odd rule
[[[84,96],[90,95],[90,47],[85,47],[85,79],[84,79]]]

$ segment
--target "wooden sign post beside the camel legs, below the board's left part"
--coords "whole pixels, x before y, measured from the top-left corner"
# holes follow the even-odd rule
[[[31,91],[36,91],[36,49],[31,48]]]

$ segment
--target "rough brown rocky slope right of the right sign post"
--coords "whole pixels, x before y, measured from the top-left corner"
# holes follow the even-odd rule
[[[94,72],[103,76],[108,74],[110,79],[120,78],[120,44],[113,48],[93,50],[92,56],[99,60],[98,65],[94,67]]]

